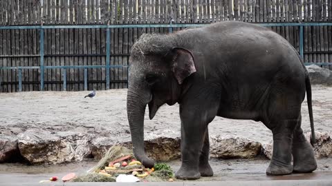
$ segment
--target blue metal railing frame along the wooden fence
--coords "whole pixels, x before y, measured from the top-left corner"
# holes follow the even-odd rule
[[[299,55],[304,57],[304,34],[305,26],[331,26],[332,23],[255,23],[265,27],[282,27],[282,26],[298,26],[299,27]],[[44,90],[44,70],[45,69],[62,69],[63,76],[63,90],[66,91],[66,69],[68,68],[83,68],[84,69],[84,90],[87,90],[87,70],[93,68],[105,68],[106,70],[106,89],[109,90],[109,76],[110,68],[130,68],[129,65],[110,65],[110,29],[111,28],[169,28],[169,32],[173,32],[173,28],[195,28],[202,27],[208,24],[139,24],[139,25],[12,25],[0,26],[0,30],[21,30],[21,29],[38,29],[39,43],[40,43],[40,65],[39,66],[17,66],[17,67],[0,67],[0,70],[17,70],[19,79],[19,92],[22,91],[22,69],[39,69],[40,70],[40,90]],[[106,65],[53,65],[44,66],[44,30],[45,29],[80,29],[80,28],[106,28]],[[331,63],[304,63],[304,65],[332,65]],[[127,79],[128,81],[128,79]],[[1,86],[1,79],[0,79]]]

